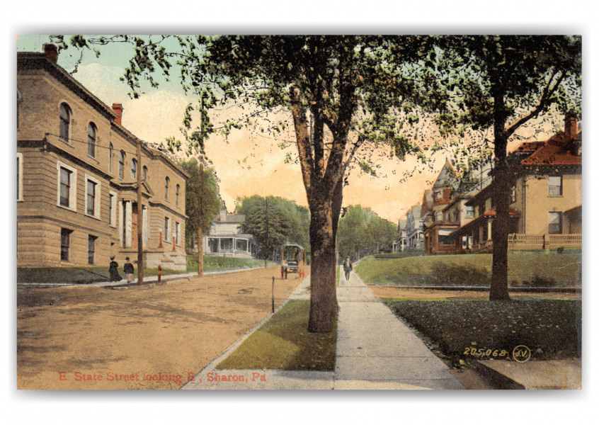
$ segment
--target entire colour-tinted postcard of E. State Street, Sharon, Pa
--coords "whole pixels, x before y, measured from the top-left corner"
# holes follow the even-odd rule
[[[17,47],[18,389],[581,389],[581,36]]]

